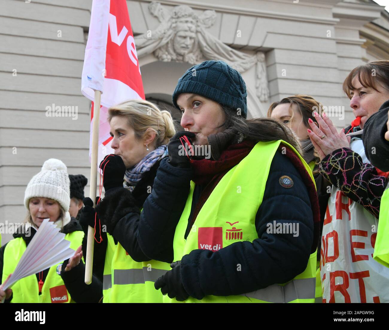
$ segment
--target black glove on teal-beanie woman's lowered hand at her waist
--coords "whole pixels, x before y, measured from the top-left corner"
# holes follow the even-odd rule
[[[154,283],[154,288],[157,290],[161,289],[162,294],[167,294],[169,298],[176,298],[177,301],[184,301],[189,297],[189,295],[182,285],[180,264],[181,260],[171,263],[170,267],[173,269],[159,277],[159,279]]]

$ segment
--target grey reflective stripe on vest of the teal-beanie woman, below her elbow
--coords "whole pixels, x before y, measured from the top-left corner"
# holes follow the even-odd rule
[[[296,299],[314,299],[315,286],[315,277],[311,279],[296,279],[284,286],[273,284],[264,289],[244,293],[242,296],[275,303],[291,302]]]

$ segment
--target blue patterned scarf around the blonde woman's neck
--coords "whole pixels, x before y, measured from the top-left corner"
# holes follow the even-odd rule
[[[138,182],[142,179],[143,174],[149,171],[156,162],[165,157],[167,154],[168,146],[161,145],[145,155],[145,157],[137,165],[126,169],[123,187],[132,192]]]

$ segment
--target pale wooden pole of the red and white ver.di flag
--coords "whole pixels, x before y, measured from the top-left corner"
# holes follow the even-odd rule
[[[93,106],[93,131],[92,131],[92,154],[91,154],[91,185],[89,197],[93,201],[93,207],[96,206],[96,188],[97,188],[97,156],[98,156],[98,129],[100,123],[100,90],[95,90],[95,104]],[[100,174],[100,173],[99,173]],[[95,243],[95,228],[88,226],[88,238],[86,243],[85,260],[85,284],[92,282],[93,266],[93,247]]]

